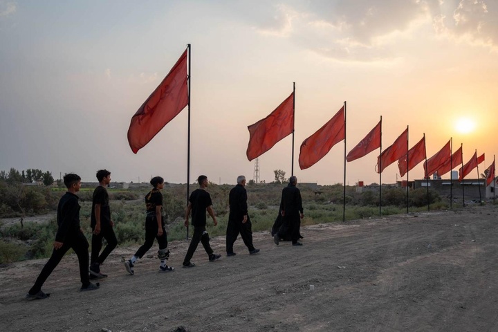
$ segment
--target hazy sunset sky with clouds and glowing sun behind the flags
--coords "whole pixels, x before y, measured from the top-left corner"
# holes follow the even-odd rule
[[[464,162],[486,154],[483,172],[498,153],[497,17],[495,0],[0,0],[0,170],[185,183],[187,109],[138,154],[127,130],[191,44],[190,183],[252,179],[247,126],[293,82],[294,161],[288,136],[259,157],[261,180],[294,165],[299,182],[343,183],[344,147],[381,116],[382,149],[409,126],[409,147],[425,133],[430,158],[452,138]],[[299,169],[302,141],[344,101],[345,146]],[[378,183],[378,154],[347,163],[347,185]],[[382,183],[398,174],[390,165]]]

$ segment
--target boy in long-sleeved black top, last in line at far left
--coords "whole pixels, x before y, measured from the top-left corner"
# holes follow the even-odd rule
[[[57,234],[55,234],[54,250],[35,284],[26,294],[26,299],[46,299],[50,296],[50,294],[42,291],[42,286],[70,248],[74,250],[80,263],[80,279],[82,282],[80,291],[93,291],[99,288],[99,284],[92,284],[89,279],[89,243],[80,228],[80,204],[78,203],[76,192],[80,190],[81,178],[76,174],[66,174],[64,176],[64,185],[66,185],[68,191],[62,196],[57,207],[57,225],[59,225],[59,228],[57,229]]]

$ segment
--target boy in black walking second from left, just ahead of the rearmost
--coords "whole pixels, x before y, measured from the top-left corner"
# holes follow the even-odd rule
[[[102,265],[111,253],[118,246],[118,240],[114,234],[114,223],[111,221],[111,209],[109,208],[109,194],[107,194],[107,185],[111,183],[111,172],[107,169],[100,169],[97,172],[98,187],[93,191],[92,210],[91,210],[91,228],[92,232],[92,253],[90,259],[90,279],[105,278],[107,275],[100,273]],[[99,256],[102,249],[102,238],[106,239],[107,246]]]

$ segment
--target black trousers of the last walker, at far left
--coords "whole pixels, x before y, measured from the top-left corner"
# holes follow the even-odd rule
[[[70,248],[74,250],[74,252],[78,257],[78,262],[80,264],[80,279],[82,282],[82,286],[87,286],[88,284],[90,284],[90,278],[88,272],[89,243],[88,241],[86,241],[86,237],[84,237],[84,234],[78,232],[78,234],[74,234],[73,236],[66,238],[61,248],[57,250],[54,249],[52,251],[52,256],[50,256],[50,259],[48,259],[44,268],[42,268],[42,272],[40,272],[40,274],[36,279],[35,284],[33,285],[33,287],[31,287],[29,291],[31,295],[35,295],[36,293],[42,290],[42,286],[46,282],[46,279],[48,279],[50,273],[52,273],[57,264],[59,264],[59,262],[61,261],[62,257],[64,257],[64,254],[66,254],[66,252]]]

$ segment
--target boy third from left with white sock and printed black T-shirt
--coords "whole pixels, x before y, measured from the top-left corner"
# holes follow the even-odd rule
[[[147,216],[145,218],[145,243],[138,248],[135,255],[131,259],[124,261],[124,267],[130,275],[135,274],[133,267],[137,259],[143,255],[154,244],[154,239],[157,239],[159,244],[158,259],[160,259],[159,272],[172,272],[174,267],[167,266],[166,261],[169,258],[169,250],[167,250],[167,234],[165,228],[165,212],[163,209],[163,194],[160,190],[164,187],[164,179],[160,176],[155,176],[150,181],[154,187],[147,195],[145,195],[145,206],[147,208]]]

